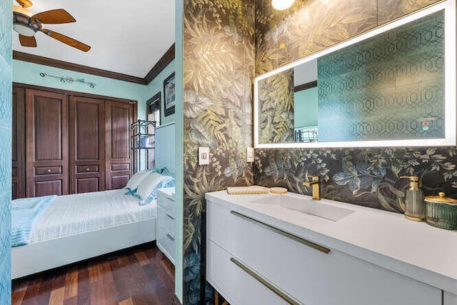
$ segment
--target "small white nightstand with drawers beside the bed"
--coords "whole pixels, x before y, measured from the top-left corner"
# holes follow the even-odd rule
[[[174,187],[157,191],[157,246],[174,264]]]

